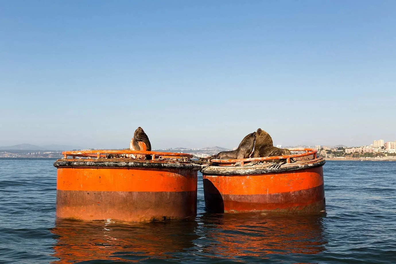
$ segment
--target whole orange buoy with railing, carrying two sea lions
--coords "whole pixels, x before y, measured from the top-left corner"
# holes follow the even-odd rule
[[[304,153],[211,160],[213,165],[201,170],[206,208],[217,213],[322,212],[326,204],[323,180],[325,160],[317,158],[314,149],[298,148],[291,151]],[[286,164],[273,169],[274,163],[266,162],[272,160],[286,160]],[[291,163],[293,160],[295,162]]]

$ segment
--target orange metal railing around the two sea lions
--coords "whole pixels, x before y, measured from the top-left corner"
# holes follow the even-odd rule
[[[316,159],[316,153],[318,150],[314,148],[291,148],[289,149],[292,152],[305,152],[301,154],[292,154],[292,155],[286,155],[286,156],[270,156],[270,157],[260,157],[260,158],[246,158],[246,159],[236,159],[236,160],[218,160],[218,159],[212,159],[210,160],[211,163],[218,163],[219,165],[231,165],[237,162],[241,163],[241,166],[244,165],[244,163],[251,162],[251,161],[270,161],[270,160],[286,160],[286,163],[291,163],[290,159],[291,158],[303,158],[308,156],[312,156],[312,160]]]

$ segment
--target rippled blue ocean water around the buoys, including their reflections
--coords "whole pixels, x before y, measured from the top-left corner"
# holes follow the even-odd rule
[[[396,263],[396,162],[327,161],[326,213],[55,218],[51,159],[0,159],[0,263]]]

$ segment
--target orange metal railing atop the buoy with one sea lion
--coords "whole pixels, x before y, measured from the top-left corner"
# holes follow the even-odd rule
[[[136,158],[138,155],[151,155],[151,160],[180,160],[180,161],[190,161],[192,154],[188,153],[177,153],[177,152],[156,152],[156,151],[142,151],[142,150],[78,150],[78,151],[64,151],[62,152],[64,159],[78,158],[97,158],[105,159],[106,156],[119,155],[118,158],[128,158],[132,160],[139,160]],[[129,155],[129,156],[126,156]],[[135,156],[132,157],[131,155]],[[147,161],[147,160],[145,160]]]

